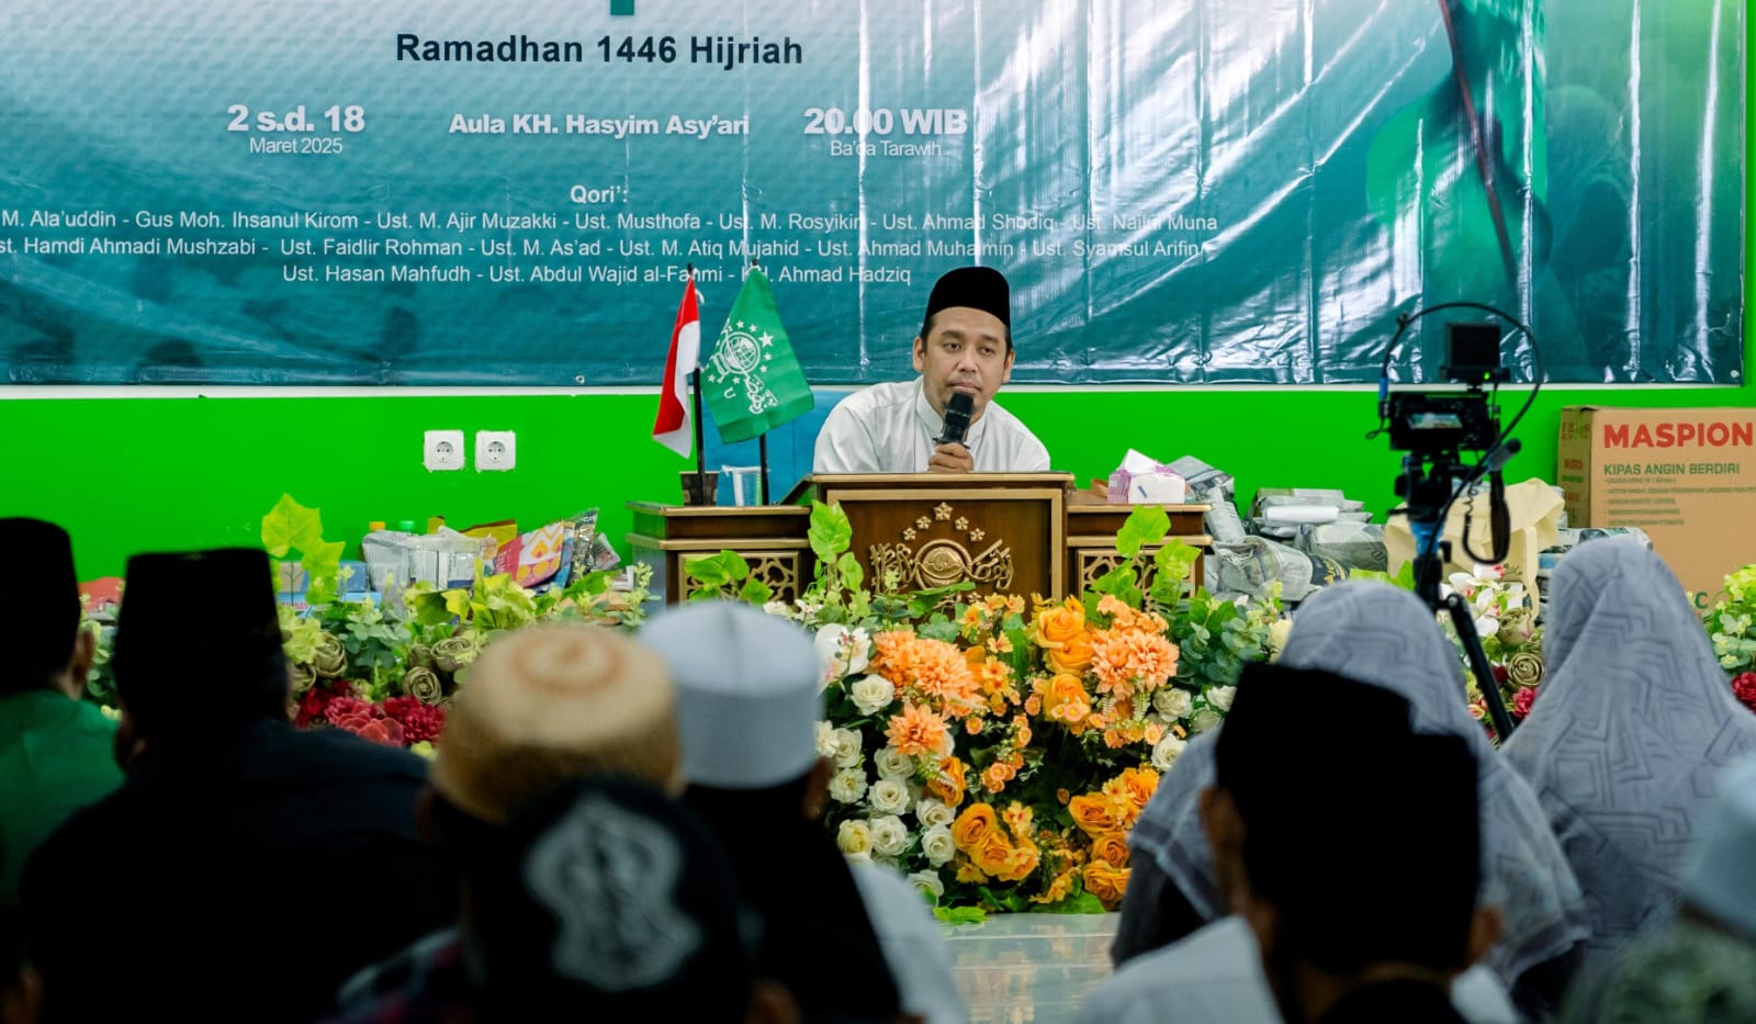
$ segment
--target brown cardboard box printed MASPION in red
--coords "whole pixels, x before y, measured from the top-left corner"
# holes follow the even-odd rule
[[[1707,609],[1756,562],[1756,409],[1561,411],[1572,527],[1640,527]]]

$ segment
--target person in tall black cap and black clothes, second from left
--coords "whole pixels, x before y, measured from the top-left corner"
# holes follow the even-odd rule
[[[128,562],[114,671],[126,782],[25,868],[46,1019],[313,1020],[453,913],[414,827],[420,757],[286,722],[269,559]]]

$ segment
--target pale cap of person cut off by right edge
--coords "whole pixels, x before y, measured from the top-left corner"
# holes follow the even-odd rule
[[[1682,896],[1756,943],[1756,754],[1728,764],[1717,785],[1696,820]]]

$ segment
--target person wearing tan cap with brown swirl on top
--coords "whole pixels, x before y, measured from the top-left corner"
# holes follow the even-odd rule
[[[474,1013],[465,938],[507,824],[553,789],[602,776],[681,789],[664,662],[623,634],[583,624],[536,625],[492,643],[451,701],[421,813],[460,880],[458,920],[360,971],[342,989],[341,1015],[406,1024]]]

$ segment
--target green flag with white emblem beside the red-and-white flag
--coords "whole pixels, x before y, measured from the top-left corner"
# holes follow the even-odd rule
[[[727,444],[760,437],[815,404],[760,267],[738,290],[713,358],[701,369],[701,393]]]

